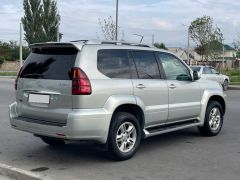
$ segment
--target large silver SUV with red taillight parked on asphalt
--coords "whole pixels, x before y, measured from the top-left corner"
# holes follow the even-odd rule
[[[189,127],[217,135],[225,95],[170,52],[143,44],[77,41],[33,44],[16,79],[11,126],[51,146],[104,144],[118,160],[150,136]]]

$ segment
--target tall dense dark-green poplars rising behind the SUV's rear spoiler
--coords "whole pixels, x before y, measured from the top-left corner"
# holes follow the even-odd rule
[[[60,16],[54,0],[24,0],[22,18],[28,44],[57,41]]]

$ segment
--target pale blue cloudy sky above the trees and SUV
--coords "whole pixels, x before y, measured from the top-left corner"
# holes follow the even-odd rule
[[[0,0],[0,41],[19,40],[23,0]],[[115,19],[116,0],[57,0],[62,41],[103,38],[99,19]],[[119,0],[120,38],[168,47],[186,47],[187,27],[203,15],[211,16],[223,32],[225,43],[240,34],[239,0]],[[184,25],[185,26],[184,26]],[[194,42],[191,41],[194,47]]]

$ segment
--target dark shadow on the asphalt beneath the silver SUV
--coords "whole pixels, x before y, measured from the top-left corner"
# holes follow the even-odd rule
[[[140,145],[138,156],[151,153],[159,149],[170,148],[178,143],[194,143],[200,134],[196,128],[162,134],[148,139],[144,139]],[[40,144],[39,144],[40,143]],[[54,165],[60,163],[62,166],[71,164],[84,165],[89,163],[115,163],[109,158],[106,151],[100,149],[95,143],[91,142],[70,142],[62,147],[50,147],[39,139],[38,147],[33,147],[29,151],[21,151],[22,155],[28,160],[37,161],[40,164]],[[63,169],[65,167],[62,167]]]

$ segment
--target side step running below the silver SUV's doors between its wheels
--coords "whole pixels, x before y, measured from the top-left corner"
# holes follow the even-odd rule
[[[195,127],[200,124],[201,122],[199,122],[199,120],[194,119],[190,121],[177,122],[173,124],[146,128],[146,129],[143,129],[143,132],[145,134],[145,138],[148,138],[148,137],[159,135],[159,134],[164,134],[164,133],[173,132],[173,131],[177,131],[185,128]]]

